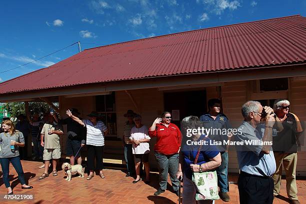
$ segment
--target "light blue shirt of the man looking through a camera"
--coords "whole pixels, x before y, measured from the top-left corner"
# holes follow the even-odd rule
[[[263,137],[264,129],[262,125],[258,125],[254,128],[248,122],[243,123],[238,127],[241,130],[241,134],[236,134],[237,141],[243,141],[244,145],[237,149],[237,159],[239,169],[252,174],[260,176],[271,176],[276,170],[276,163],[272,148],[269,154],[261,152],[262,145],[253,144],[247,145],[245,141],[261,141]]]

